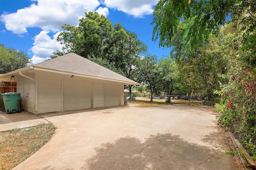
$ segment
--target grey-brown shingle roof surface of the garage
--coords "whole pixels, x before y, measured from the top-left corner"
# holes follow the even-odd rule
[[[45,69],[53,69],[138,84],[131,79],[128,79],[75,53],[68,53],[54,59],[46,60],[42,63],[35,64],[34,67],[41,67]]]

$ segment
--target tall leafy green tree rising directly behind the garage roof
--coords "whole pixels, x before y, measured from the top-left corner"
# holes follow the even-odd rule
[[[59,34],[57,41],[64,47],[62,51],[55,51],[51,58],[74,52],[99,64],[107,61],[115,67],[109,67],[113,71],[122,71],[126,77],[133,78],[135,61],[147,49],[137,35],[120,23],[113,27],[108,18],[97,12],[85,12],[85,18],[79,22],[78,26],[62,26],[65,32]]]

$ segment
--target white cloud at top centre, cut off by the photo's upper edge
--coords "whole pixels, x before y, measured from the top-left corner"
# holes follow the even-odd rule
[[[143,17],[152,14],[153,7],[158,0],[104,0],[100,2],[108,8],[115,8],[135,17]]]

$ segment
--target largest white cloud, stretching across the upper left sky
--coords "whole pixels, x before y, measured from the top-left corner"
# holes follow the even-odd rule
[[[27,32],[26,28],[38,27],[42,30],[57,32],[64,24],[77,25],[84,12],[94,11],[100,3],[98,0],[34,0],[27,8],[16,13],[2,14],[1,20],[6,29],[15,34]],[[106,9],[99,9],[107,14]]]

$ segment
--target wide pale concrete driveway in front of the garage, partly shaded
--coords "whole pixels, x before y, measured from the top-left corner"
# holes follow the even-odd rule
[[[40,115],[58,129],[14,170],[233,170],[209,107],[134,105]]]

